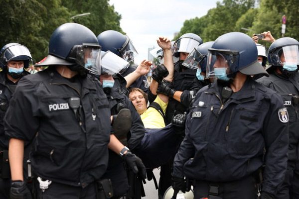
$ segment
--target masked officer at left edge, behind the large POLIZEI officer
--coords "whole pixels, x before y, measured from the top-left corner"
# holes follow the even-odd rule
[[[3,118],[15,87],[24,75],[29,74],[32,62],[27,47],[18,43],[9,43],[0,50],[0,198],[8,199],[10,188],[10,171],[8,163],[8,137],[4,135]]]

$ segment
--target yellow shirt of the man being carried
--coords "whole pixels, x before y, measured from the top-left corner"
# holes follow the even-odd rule
[[[159,95],[157,95],[154,102],[158,103],[161,106],[161,108],[165,114],[168,103],[165,103],[164,101],[162,101],[159,98]],[[153,107],[149,107],[140,116],[141,116],[141,119],[146,128],[163,128],[163,127],[165,127],[165,123],[164,123],[164,119],[163,119],[162,115],[159,113],[159,111],[157,111]]]

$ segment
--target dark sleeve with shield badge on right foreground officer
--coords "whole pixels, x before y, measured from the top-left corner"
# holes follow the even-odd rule
[[[278,94],[273,94],[270,100],[271,107],[264,120],[263,129],[266,145],[263,191],[275,194],[287,171],[289,130],[288,122],[280,116],[287,113],[283,100]]]

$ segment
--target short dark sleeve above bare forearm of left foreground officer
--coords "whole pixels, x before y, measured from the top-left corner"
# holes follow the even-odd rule
[[[10,100],[4,117],[5,134],[10,138],[30,141],[39,127],[38,100],[35,86],[22,78]]]

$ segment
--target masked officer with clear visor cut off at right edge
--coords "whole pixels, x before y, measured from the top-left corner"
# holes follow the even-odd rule
[[[278,190],[277,199],[299,198],[299,170],[295,169],[298,164],[299,147],[299,42],[290,37],[276,40],[269,48],[268,61],[271,66],[267,69],[270,77],[258,80],[266,87],[276,91],[282,96],[284,105],[288,109],[289,121],[289,157],[288,170],[284,184]],[[297,176],[297,177],[296,177]]]

